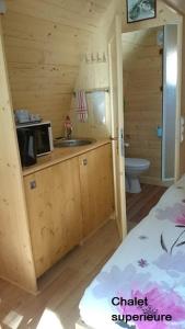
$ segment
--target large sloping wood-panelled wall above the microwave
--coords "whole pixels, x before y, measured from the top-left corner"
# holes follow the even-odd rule
[[[63,132],[81,54],[111,0],[7,0],[5,54],[13,109],[28,109]]]

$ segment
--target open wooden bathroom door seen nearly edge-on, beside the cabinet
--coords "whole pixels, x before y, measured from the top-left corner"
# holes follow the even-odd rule
[[[112,83],[112,58],[111,44],[116,39],[117,54],[117,129],[115,132],[115,117],[113,109],[113,83]],[[112,117],[112,154],[113,154],[113,174],[114,174],[114,196],[115,196],[115,215],[118,224],[120,238],[127,234],[127,218],[126,218],[126,198],[125,198],[125,151],[124,151],[124,93],[123,93],[123,58],[122,58],[122,16],[116,15],[114,22],[114,32],[108,39],[108,63],[109,63],[109,97],[111,97],[111,117]],[[116,168],[116,158],[118,161],[119,172]],[[119,193],[117,189],[117,180],[119,183]],[[119,194],[119,195],[118,195]],[[118,212],[118,208],[120,212]],[[120,213],[120,215],[118,215]],[[119,218],[120,216],[120,218]]]

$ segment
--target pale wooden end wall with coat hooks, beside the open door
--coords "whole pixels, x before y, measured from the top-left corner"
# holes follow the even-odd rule
[[[108,42],[113,36],[115,30],[115,14],[122,15],[123,0],[112,0],[107,5],[107,9],[103,15],[101,26],[94,37],[88,45],[86,54],[90,56],[93,54],[95,57],[100,54],[100,57],[105,55],[104,63],[90,63],[81,61],[79,75],[76,81],[76,89],[93,90],[109,88],[109,65],[108,65]],[[79,123],[77,114],[73,111],[74,98],[71,105],[71,117],[74,123],[74,134],[77,136],[89,136],[94,138],[109,137],[111,136],[111,109],[109,109],[109,93],[105,93],[105,124],[97,124],[93,120],[92,115],[92,101],[89,94],[86,94],[89,104],[89,121],[86,123]]]

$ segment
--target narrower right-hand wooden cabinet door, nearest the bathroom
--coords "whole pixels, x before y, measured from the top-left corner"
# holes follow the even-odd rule
[[[96,230],[114,212],[111,145],[79,157],[83,238]]]

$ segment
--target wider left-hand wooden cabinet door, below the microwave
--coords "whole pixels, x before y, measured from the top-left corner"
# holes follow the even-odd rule
[[[81,240],[78,158],[24,178],[36,274],[41,276]]]

